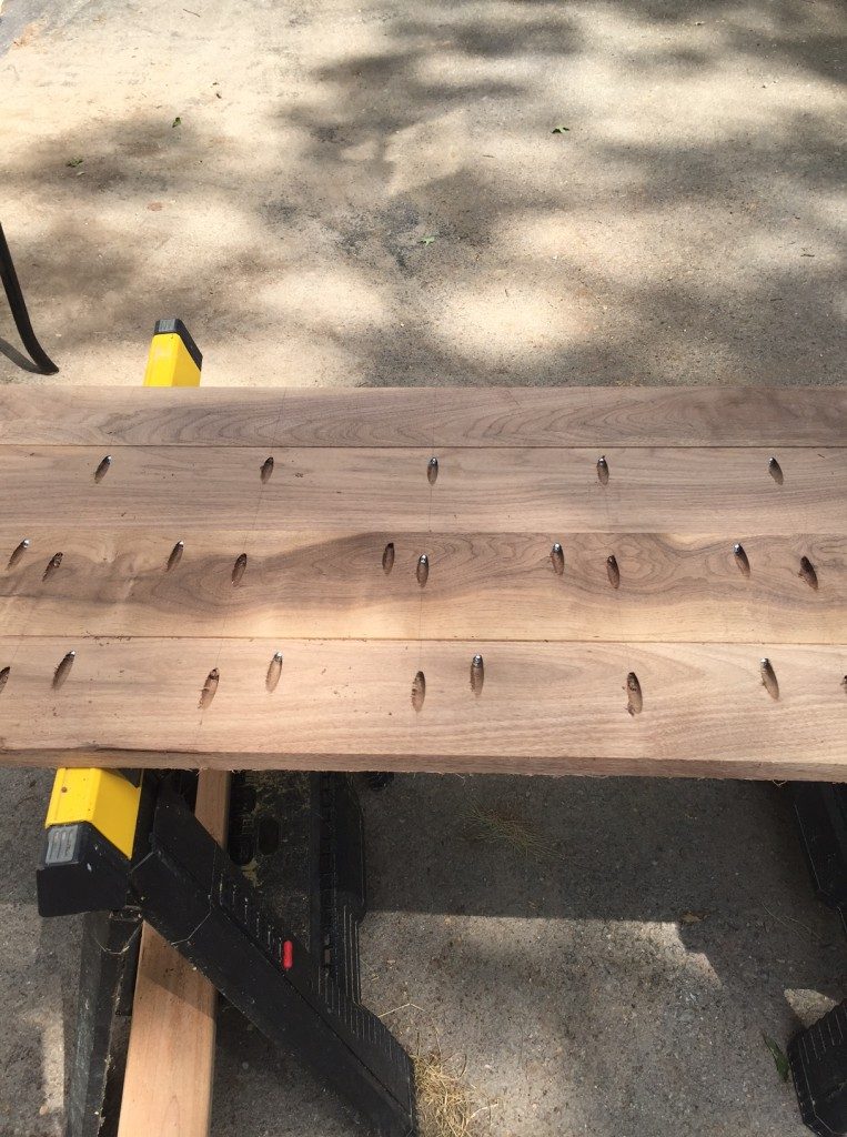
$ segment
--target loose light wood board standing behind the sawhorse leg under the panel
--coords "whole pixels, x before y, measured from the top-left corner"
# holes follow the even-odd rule
[[[196,813],[226,837],[229,774],[200,772]],[[118,1137],[207,1137],[217,993],[149,924],[141,936]]]

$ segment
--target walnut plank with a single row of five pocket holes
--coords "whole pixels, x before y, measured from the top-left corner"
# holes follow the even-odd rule
[[[593,450],[275,451],[126,447],[94,482],[103,455],[86,447],[2,447],[3,524],[167,525],[175,536],[383,529],[439,532],[831,533],[844,529],[847,449],[608,449],[608,484]],[[681,522],[684,521],[684,525]]]

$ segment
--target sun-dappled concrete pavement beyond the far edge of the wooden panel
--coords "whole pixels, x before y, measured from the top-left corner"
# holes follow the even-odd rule
[[[257,2],[197,31],[156,0],[0,58],[0,215],[60,382],[135,382],[176,313],[214,382],[838,379],[833,5]]]

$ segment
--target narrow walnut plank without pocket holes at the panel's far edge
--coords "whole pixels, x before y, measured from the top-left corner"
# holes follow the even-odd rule
[[[0,443],[842,446],[845,388],[0,389]]]

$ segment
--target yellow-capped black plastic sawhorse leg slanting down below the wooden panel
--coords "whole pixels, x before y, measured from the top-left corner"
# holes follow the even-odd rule
[[[204,829],[188,789],[178,773],[144,771],[136,786],[116,772],[63,771],[39,911],[136,913],[268,1039],[346,1094],[368,1131],[410,1137],[408,1054]]]

